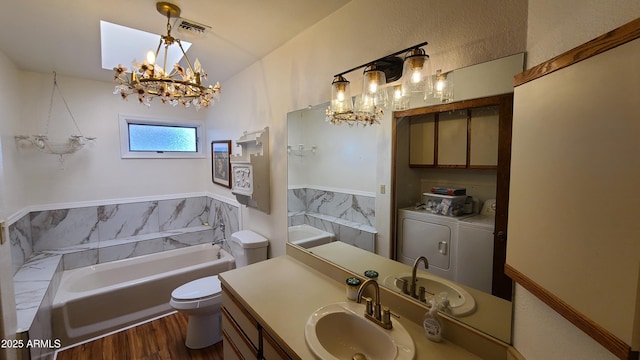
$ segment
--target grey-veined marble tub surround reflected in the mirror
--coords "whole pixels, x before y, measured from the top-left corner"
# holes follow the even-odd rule
[[[375,252],[375,197],[299,188],[287,192],[289,226],[307,224]]]

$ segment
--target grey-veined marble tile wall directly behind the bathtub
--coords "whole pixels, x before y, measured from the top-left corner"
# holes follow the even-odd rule
[[[32,254],[64,253],[72,269],[221,239],[237,207],[206,196],[34,211],[10,225],[14,274]]]

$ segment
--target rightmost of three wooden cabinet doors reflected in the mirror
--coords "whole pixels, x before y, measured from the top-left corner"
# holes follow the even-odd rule
[[[469,126],[469,167],[498,166],[500,108],[487,106],[471,109]]]

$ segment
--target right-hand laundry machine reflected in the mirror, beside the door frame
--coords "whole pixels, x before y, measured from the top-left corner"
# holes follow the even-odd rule
[[[491,294],[496,201],[484,202],[480,214],[458,222],[457,282]]]

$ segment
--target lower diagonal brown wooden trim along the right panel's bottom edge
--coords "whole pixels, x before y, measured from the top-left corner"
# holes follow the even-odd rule
[[[607,350],[611,351],[611,353],[618,358],[625,360],[638,359],[638,352],[631,351],[631,347],[624,341],[618,339],[608,330],[572,308],[562,299],[552,294],[550,291],[540,286],[535,281],[513,268],[511,265],[505,264],[504,272],[507,276],[513,279],[513,281],[527,289],[527,291],[547,304],[558,314],[562,315],[565,319],[569,320],[569,322],[584,331],[587,335],[591,336],[595,341],[600,343],[600,345],[604,346]]]

